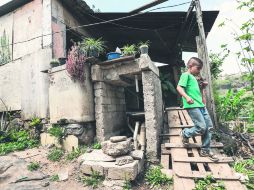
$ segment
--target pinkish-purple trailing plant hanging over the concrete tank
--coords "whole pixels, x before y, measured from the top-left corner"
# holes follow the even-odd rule
[[[68,53],[66,70],[73,79],[83,82],[85,80],[85,63],[87,57],[80,46],[75,44]]]

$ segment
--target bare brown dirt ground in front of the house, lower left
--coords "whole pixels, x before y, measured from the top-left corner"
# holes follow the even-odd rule
[[[47,159],[49,149],[39,147],[20,152],[13,152],[6,156],[0,156],[0,189],[1,190],[90,190],[78,179],[80,157],[72,161],[65,159],[52,162]],[[36,171],[27,169],[30,162],[38,162],[40,168]],[[58,175],[59,181],[51,181],[52,175]],[[25,181],[23,181],[25,180]],[[114,188],[100,185],[99,190]],[[132,182],[133,190],[150,189],[142,176]],[[169,189],[162,187],[161,189]]]

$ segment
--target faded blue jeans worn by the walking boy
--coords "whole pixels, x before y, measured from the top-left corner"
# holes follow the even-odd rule
[[[189,108],[187,111],[193,120],[194,127],[184,129],[184,136],[191,138],[201,134],[202,150],[210,151],[210,142],[212,137],[210,130],[213,128],[213,123],[207,109],[205,107]]]

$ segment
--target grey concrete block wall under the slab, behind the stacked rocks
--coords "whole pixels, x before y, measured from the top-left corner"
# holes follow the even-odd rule
[[[99,142],[126,129],[124,88],[104,82],[94,83],[96,135]]]

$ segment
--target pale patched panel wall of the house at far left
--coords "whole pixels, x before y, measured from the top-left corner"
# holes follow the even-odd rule
[[[6,31],[11,63],[0,66],[0,98],[11,110],[22,110],[23,119],[48,115],[48,78],[41,71],[52,58],[51,0],[34,0],[0,17],[0,36]],[[0,103],[0,112],[5,107]]]

